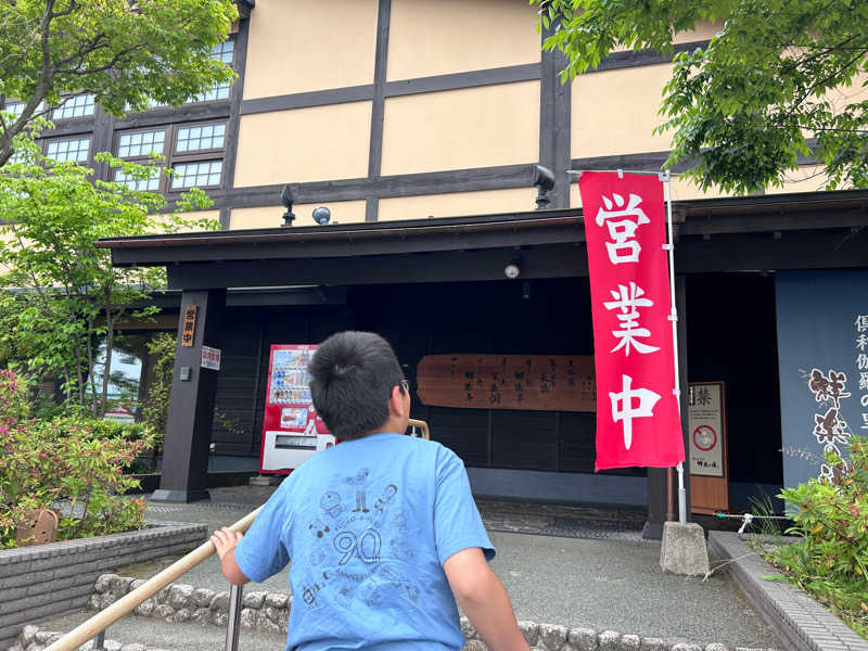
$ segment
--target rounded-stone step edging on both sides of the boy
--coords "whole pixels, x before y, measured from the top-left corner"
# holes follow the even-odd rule
[[[143,583],[144,579],[103,574],[93,585],[88,608],[102,610]],[[171,584],[143,601],[136,608],[133,614],[158,617],[170,623],[193,621],[201,624],[226,626],[228,610],[228,590],[215,592],[205,588],[194,588],[191,585]],[[286,635],[291,610],[292,597],[285,593],[244,592],[241,627],[248,630],[256,629]],[[519,628],[533,651],[751,651],[719,643],[702,646],[684,639],[650,638],[614,630],[597,631],[592,628],[570,628],[528,621],[519,622]],[[464,644],[467,651],[486,651],[487,647],[467,617],[461,617],[461,633],[467,641]],[[24,649],[23,651],[34,650]]]

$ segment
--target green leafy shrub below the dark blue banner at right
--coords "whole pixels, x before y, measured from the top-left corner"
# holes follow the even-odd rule
[[[780,497],[792,510],[788,529],[803,541],[781,546],[770,560],[789,579],[868,634],[868,438],[853,436],[850,461],[826,455],[834,478],[810,480]]]

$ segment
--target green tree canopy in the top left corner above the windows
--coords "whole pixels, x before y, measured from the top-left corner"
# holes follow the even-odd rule
[[[208,54],[238,17],[233,0],[0,0],[0,165],[27,125],[68,93],[115,116],[181,104],[233,73]]]

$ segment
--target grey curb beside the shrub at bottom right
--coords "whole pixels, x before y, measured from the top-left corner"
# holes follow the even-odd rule
[[[780,574],[754,552],[738,534],[710,532],[709,548],[727,561],[728,571],[751,604],[794,651],[868,651],[868,640],[859,637],[822,605],[801,590],[763,576]]]

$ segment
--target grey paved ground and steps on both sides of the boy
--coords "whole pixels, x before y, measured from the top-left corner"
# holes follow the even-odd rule
[[[267,487],[218,488],[212,492],[210,503],[151,503],[148,518],[201,522],[217,528],[241,519],[271,490],[273,488]],[[716,573],[709,580],[664,575],[659,567],[660,544],[640,538],[643,513],[639,511],[486,500],[480,501],[480,510],[498,549],[492,567],[507,587],[519,620],[682,638],[702,644],[722,642],[730,648],[783,648],[726,574]],[[127,567],[119,574],[146,578],[174,560]],[[254,589],[288,591],[288,574],[284,570]],[[228,589],[216,557],[193,569],[178,583]],[[52,624],[55,630],[62,629],[61,626],[69,627],[68,618],[48,622],[46,626]],[[154,620],[129,616],[123,624],[114,625],[108,637],[131,641],[124,636],[136,635],[138,629],[153,631],[156,628],[161,628],[162,635],[168,628],[168,625],[155,627],[154,624]],[[192,631],[201,627],[171,625],[171,630],[180,636],[176,638],[178,641],[183,638],[194,646],[166,642],[166,648],[199,648],[196,635],[183,633],[187,628]],[[216,635],[216,642],[208,643],[219,643],[222,634],[210,631],[208,635]],[[245,635],[252,640],[247,631],[242,638]],[[199,638],[205,642],[201,633]],[[265,643],[270,637],[256,639]],[[143,641],[142,637],[138,641]],[[264,648],[261,643],[259,648]]]

